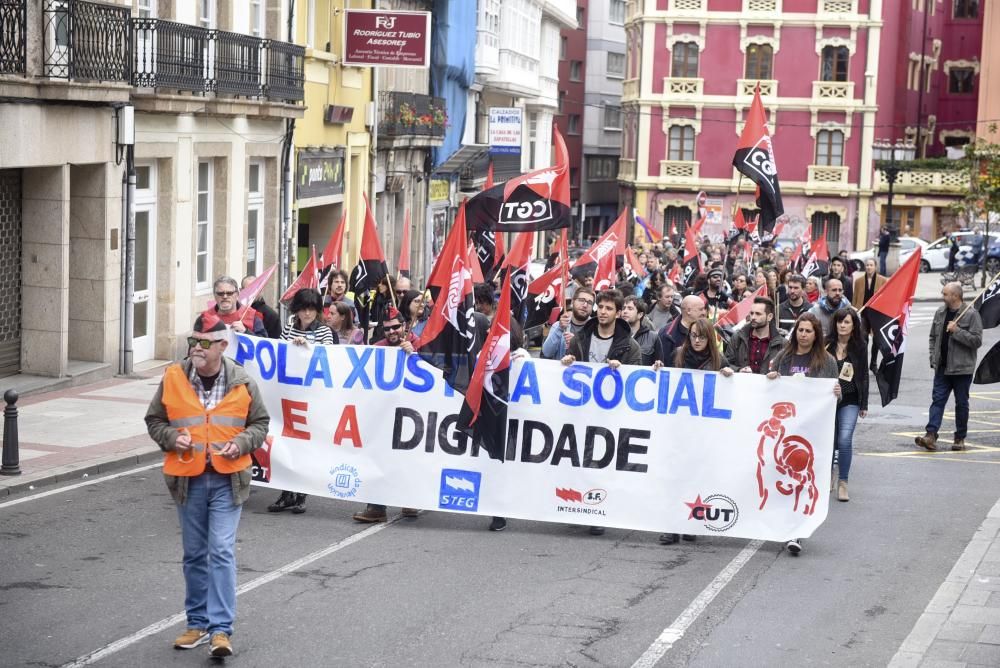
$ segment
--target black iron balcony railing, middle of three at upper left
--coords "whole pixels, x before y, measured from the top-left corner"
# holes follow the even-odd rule
[[[87,0],[44,0],[44,74],[57,79],[128,82],[131,11]]]

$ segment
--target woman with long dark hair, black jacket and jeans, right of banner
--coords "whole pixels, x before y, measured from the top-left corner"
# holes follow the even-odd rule
[[[833,330],[826,349],[837,362],[840,399],[837,401],[837,422],[833,447],[839,461],[837,500],[850,501],[847,476],[851,472],[854,453],[854,428],[858,417],[868,414],[868,351],[861,333],[861,318],[857,311],[846,308],[833,314]],[[832,486],[832,485],[831,485]]]

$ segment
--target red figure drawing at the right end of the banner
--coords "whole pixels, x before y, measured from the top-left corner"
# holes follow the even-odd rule
[[[799,501],[805,500],[802,513],[816,512],[819,490],[816,489],[815,457],[812,444],[797,434],[786,435],[785,420],[795,417],[795,404],[781,401],[771,406],[771,416],[760,423],[760,444],[757,446],[757,491],[760,508],[767,505],[773,487],[783,496],[794,500],[792,510],[799,512]]]

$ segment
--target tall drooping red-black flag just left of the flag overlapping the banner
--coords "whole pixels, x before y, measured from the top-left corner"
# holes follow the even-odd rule
[[[413,347],[432,366],[444,372],[445,380],[459,392],[469,386],[475,367],[476,323],[472,294],[471,263],[465,233],[465,202],[458,209],[455,224],[438,257],[435,275],[427,284],[436,288],[424,331]]]

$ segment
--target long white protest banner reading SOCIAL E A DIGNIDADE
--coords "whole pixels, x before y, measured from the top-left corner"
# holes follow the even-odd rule
[[[510,372],[504,462],[417,355],[237,335],[271,414],[255,484],[351,501],[766,540],[826,518],[833,380],[550,360]]]

